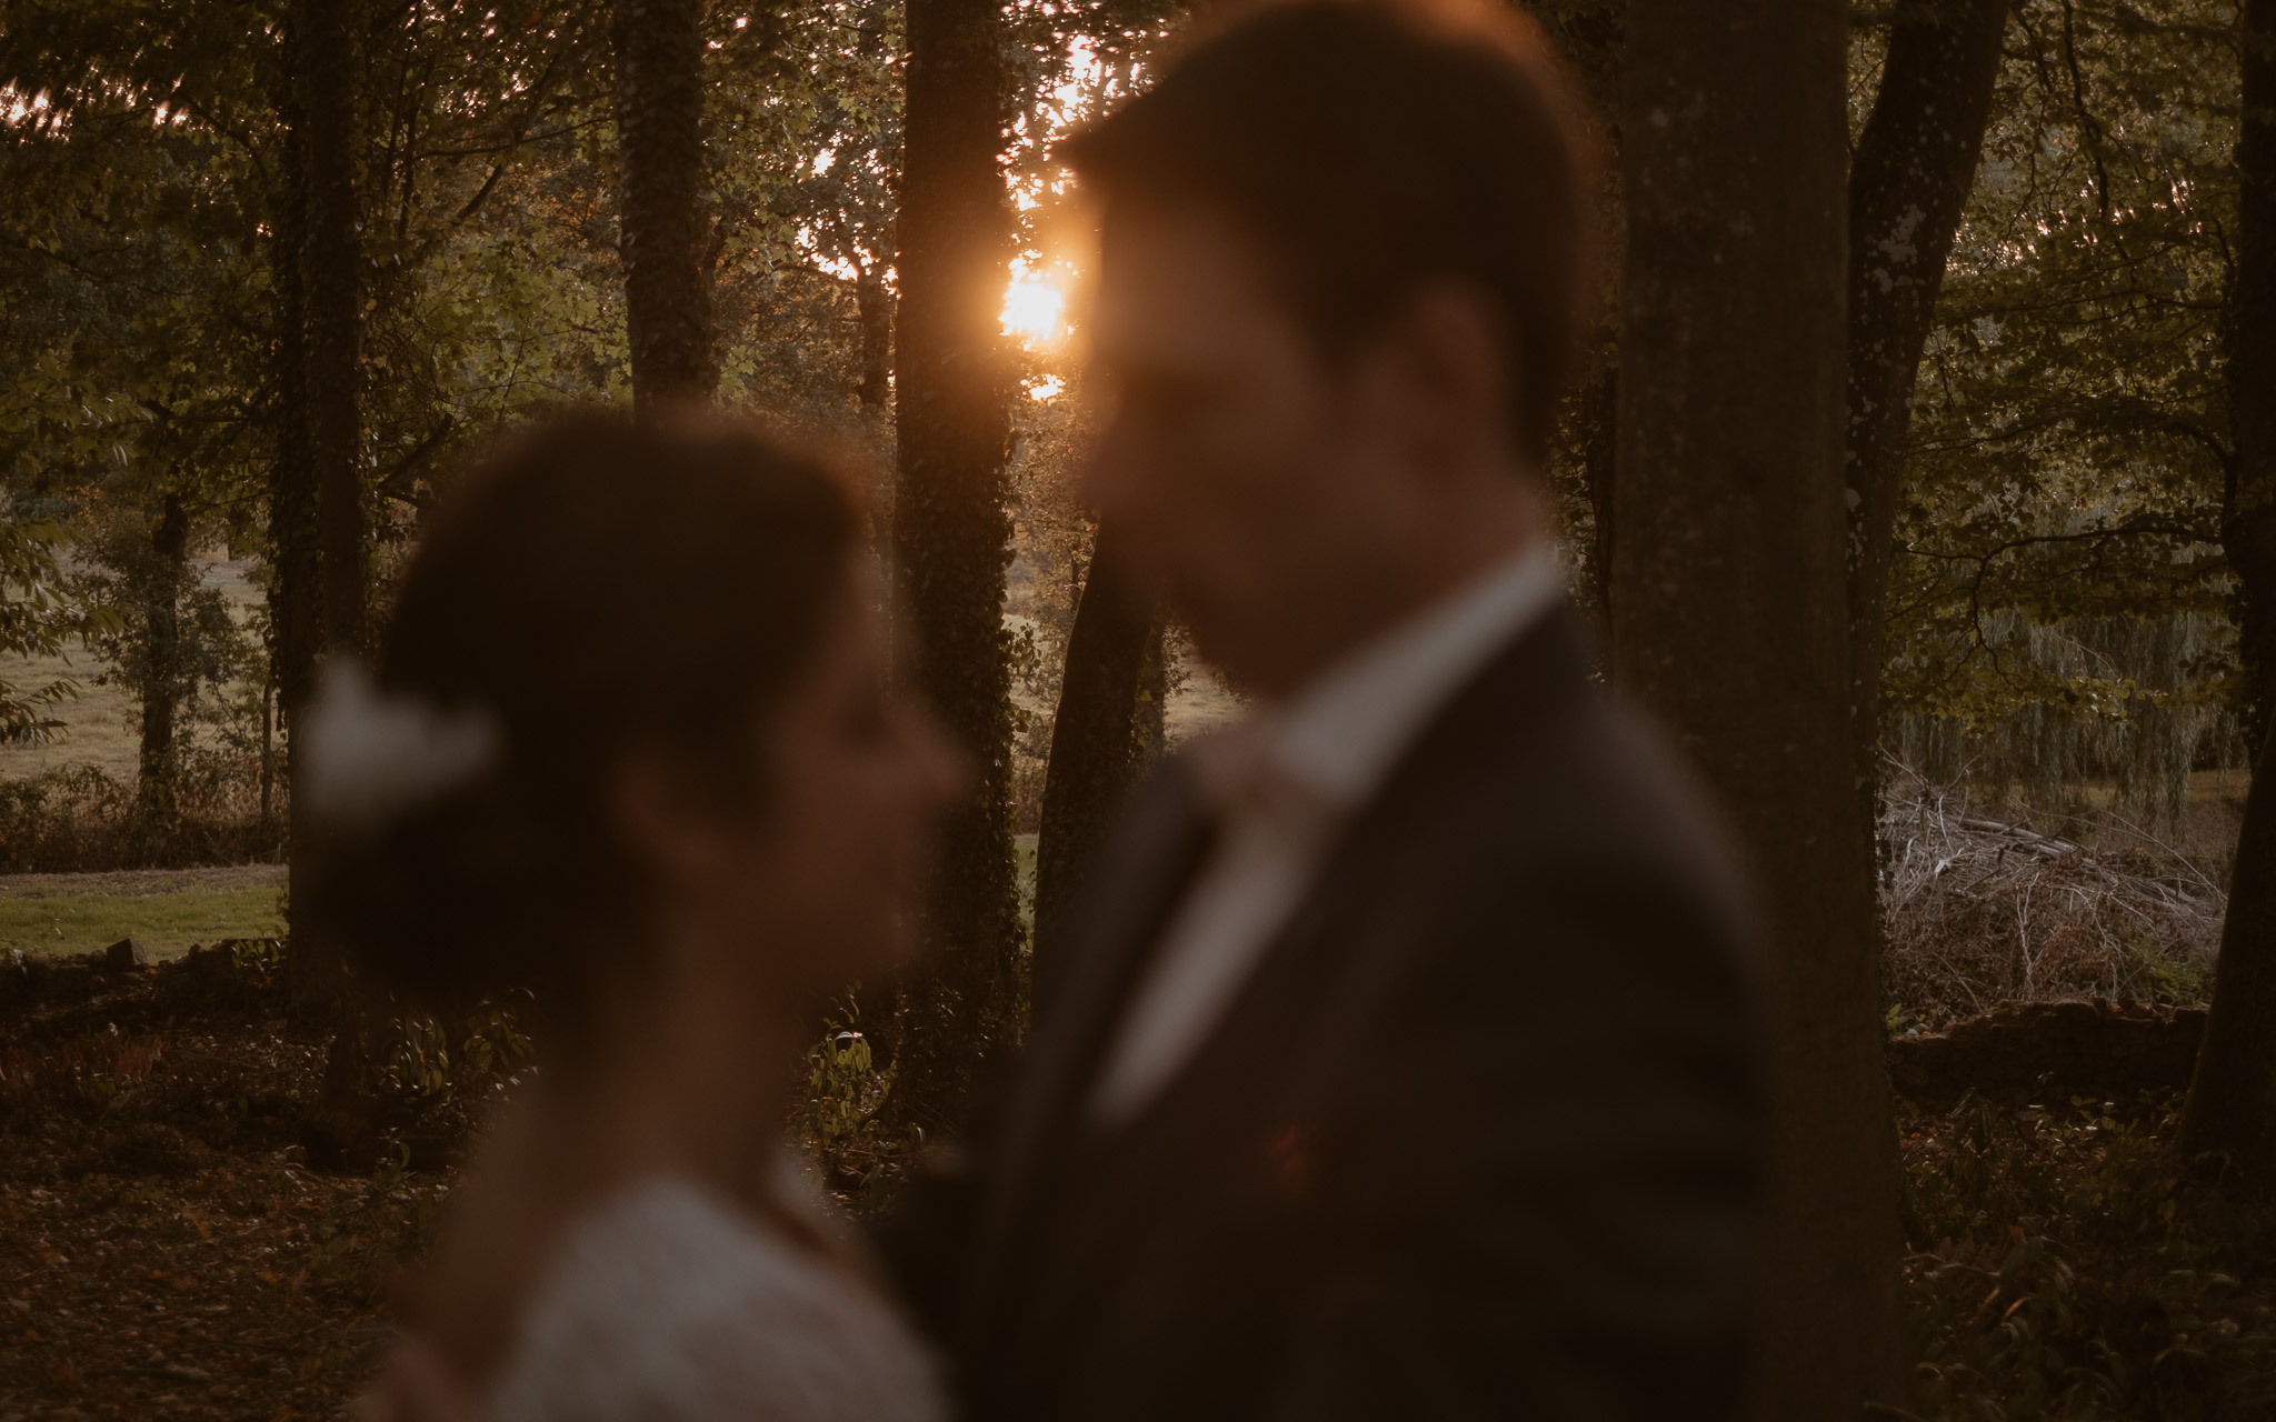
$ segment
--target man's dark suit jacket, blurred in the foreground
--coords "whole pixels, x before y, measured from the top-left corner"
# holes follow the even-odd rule
[[[1559,607],[1343,833],[1202,1051],[1086,1101],[1209,846],[1172,758],[960,1172],[883,1231],[979,1420],[1732,1415],[1753,944],[1714,821]]]

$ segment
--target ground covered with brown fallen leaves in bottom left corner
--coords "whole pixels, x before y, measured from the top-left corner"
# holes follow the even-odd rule
[[[319,1174],[323,1042],[259,972],[0,1017],[0,1422],[335,1417],[446,1181]]]

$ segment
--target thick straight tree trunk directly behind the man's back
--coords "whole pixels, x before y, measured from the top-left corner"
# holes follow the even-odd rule
[[[1627,18],[1614,680],[1734,819],[1773,1031],[1755,1415],[1905,1386],[1841,485],[1846,5]]]

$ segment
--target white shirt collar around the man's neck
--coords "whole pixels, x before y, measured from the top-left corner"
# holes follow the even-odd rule
[[[1272,717],[1275,767],[1338,810],[1366,803],[1425,721],[1561,594],[1550,544],[1511,555],[1290,698]]]

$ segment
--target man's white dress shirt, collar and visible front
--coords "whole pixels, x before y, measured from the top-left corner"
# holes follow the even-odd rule
[[[1218,810],[1218,844],[1163,931],[1090,1097],[1138,1113],[1184,1067],[1295,915],[1336,830],[1429,719],[1564,592],[1536,546],[1345,658],[1281,708],[1184,751]]]

